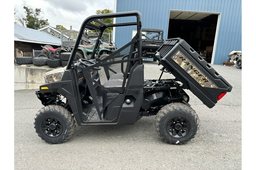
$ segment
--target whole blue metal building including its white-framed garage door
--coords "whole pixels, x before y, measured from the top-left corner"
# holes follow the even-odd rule
[[[115,0],[114,12],[134,10],[141,12],[144,28],[164,29],[164,39],[176,38],[171,37],[171,34],[177,31],[170,30],[170,27],[180,21],[183,21],[185,25],[189,22],[200,24],[203,20],[215,16],[215,23],[211,24],[215,25],[215,29],[212,29],[214,31],[208,31],[208,35],[210,33],[215,35],[210,37],[213,43],[212,64],[221,64],[227,61],[227,56],[233,49],[241,50],[241,0]],[[116,18],[114,20],[115,23],[134,21],[135,18],[132,17]],[[183,24],[181,24],[181,27],[183,27]],[[208,30],[211,27],[208,26]],[[121,47],[131,41],[133,30],[136,30],[135,26],[117,27],[114,29],[113,40]],[[203,29],[199,26],[195,29],[196,37],[207,34],[206,27],[204,27],[205,31],[201,30]],[[187,39],[193,41],[193,31],[191,26],[191,33],[186,35],[186,41]],[[208,39],[210,38],[208,37]],[[197,40],[199,47],[200,43],[202,46],[202,42],[208,41],[198,42]],[[197,50],[195,46],[193,48]]]

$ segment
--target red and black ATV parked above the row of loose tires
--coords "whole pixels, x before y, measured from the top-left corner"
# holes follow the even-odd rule
[[[59,48],[53,48],[50,45],[41,46],[43,48],[43,53],[39,54],[38,57],[47,57],[50,59],[59,59],[59,54],[62,52],[71,52],[68,47],[59,45]]]

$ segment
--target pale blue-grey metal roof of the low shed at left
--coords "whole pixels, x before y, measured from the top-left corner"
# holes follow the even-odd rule
[[[42,31],[22,27],[20,25],[14,25],[14,37],[18,41],[35,42],[35,43],[50,43],[50,44],[61,44],[61,40],[53,37]]]

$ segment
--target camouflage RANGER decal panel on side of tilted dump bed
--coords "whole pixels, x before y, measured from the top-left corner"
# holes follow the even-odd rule
[[[178,51],[172,59],[185,70],[192,78],[194,78],[202,87],[218,88],[209,78],[195,67],[180,51]]]

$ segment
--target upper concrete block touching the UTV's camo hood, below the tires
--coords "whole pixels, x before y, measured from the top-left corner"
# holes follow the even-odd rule
[[[45,80],[43,76],[46,72],[51,70],[53,69],[27,67],[26,68],[27,83],[44,84]]]

